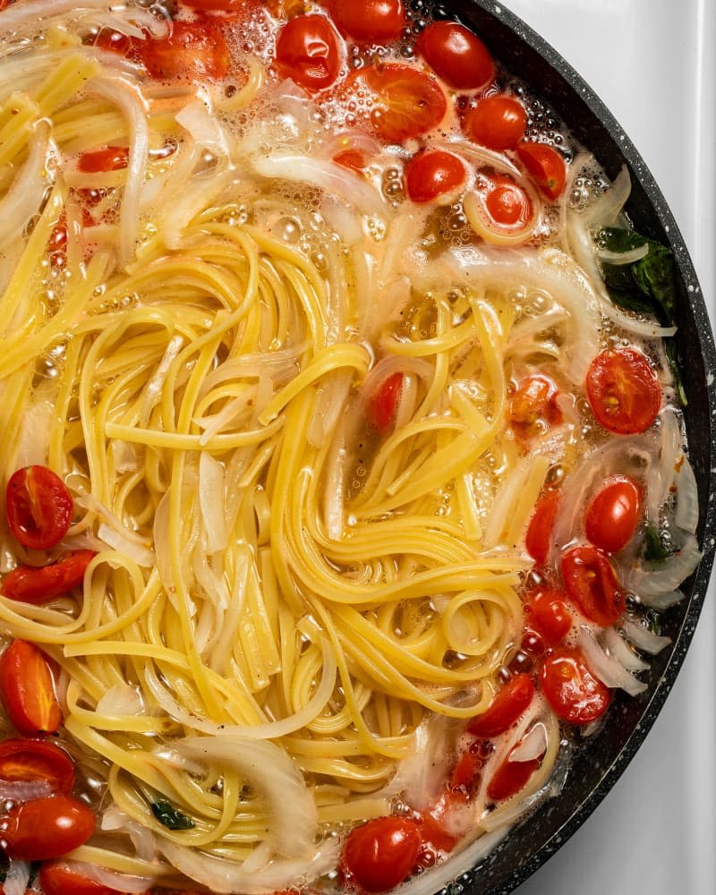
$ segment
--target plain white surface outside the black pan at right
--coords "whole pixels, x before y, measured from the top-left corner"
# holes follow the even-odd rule
[[[661,186],[716,320],[716,3],[506,0],[601,97]],[[535,85],[538,86],[538,85]],[[716,587],[617,786],[516,895],[716,892]]]

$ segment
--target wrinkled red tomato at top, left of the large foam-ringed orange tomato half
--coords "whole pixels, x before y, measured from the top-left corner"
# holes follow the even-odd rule
[[[325,90],[341,68],[341,38],[324,15],[298,15],[278,32],[277,69],[304,90]]]

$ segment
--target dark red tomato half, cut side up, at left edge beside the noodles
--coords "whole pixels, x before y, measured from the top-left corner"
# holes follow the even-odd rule
[[[25,466],[7,482],[7,524],[23,547],[55,547],[72,523],[72,496],[62,479],[47,466]]]

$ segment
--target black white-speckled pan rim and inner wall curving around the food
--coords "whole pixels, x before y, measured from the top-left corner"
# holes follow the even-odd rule
[[[678,226],[643,159],[607,107],[552,47],[502,4],[458,0],[446,5],[452,15],[480,34],[510,71],[534,87],[575,137],[592,150],[608,175],[616,175],[626,162],[633,181],[629,216],[637,229],[669,243],[675,252],[683,286],[678,338],[687,358],[686,430],[702,507],[698,535],[703,560],[686,582],[686,600],[664,617],[664,633],[671,637],[672,646],[652,661],[648,690],[636,699],[620,695],[608,723],[589,749],[575,756],[559,797],[541,805],[475,868],[466,869],[465,862],[454,865],[450,880],[450,865],[446,872],[435,874],[434,889],[447,895],[498,895],[514,891],[533,874],[615,785],[651,729],[684,660],[706,593],[716,542],[716,481],[712,473],[716,468],[716,353],[703,295]]]

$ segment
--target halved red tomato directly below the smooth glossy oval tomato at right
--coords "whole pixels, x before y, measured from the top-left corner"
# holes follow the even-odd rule
[[[625,595],[609,557],[597,547],[573,547],[561,562],[567,596],[586,618],[609,627],[624,612]]]

